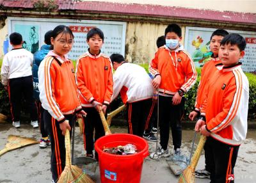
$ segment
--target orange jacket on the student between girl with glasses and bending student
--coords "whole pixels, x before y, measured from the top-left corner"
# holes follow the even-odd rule
[[[83,107],[96,100],[109,105],[113,95],[113,69],[108,56],[84,53],[76,62],[76,84]]]

